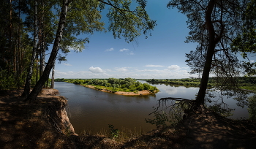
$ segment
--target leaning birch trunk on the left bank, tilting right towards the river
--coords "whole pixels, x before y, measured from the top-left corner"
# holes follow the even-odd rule
[[[45,67],[45,71],[42,72],[42,76],[40,77],[37,84],[34,86],[33,91],[29,94],[28,98],[25,99],[25,102],[33,102],[37,99],[37,95],[40,91],[42,91],[42,86],[45,84],[45,82],[49,78],[50,70],[53,68],[53,64],[55,62],[56,56],[59,51],[59,44],[61,42],[62,34],[63,34],[63,28],[64,23],[66,21],[66,15],[67,15],[67,8],[69,6],[70,0],[64,0],[63,6],[61,8],[61,16],[59,18],[59,26],[58,30],[56,32],[56,37],[53,44],[53,50],[50,53],[50,58],[48,60],[48,64]]]

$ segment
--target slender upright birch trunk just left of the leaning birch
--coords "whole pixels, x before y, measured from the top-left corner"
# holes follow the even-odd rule
[[[27,97],[30,92],[31,77],[33,74],[33,66],[34,66],[36,53],[37,53],[37,1],[35,1],[35,4],[34,4],[34,45],[33,45],[31,61],[29,64],[28,74],[26,76],[26,84],[25,84],[24,91],[22,93],[22,96],[25,96],[25,97]]]

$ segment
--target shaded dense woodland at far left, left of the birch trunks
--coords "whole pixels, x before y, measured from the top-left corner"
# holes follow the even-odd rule
[[[31,56],[32,40],[20,18],[28,7],[23,0],[3,0],[0,4],[0,88],[20,88]]]

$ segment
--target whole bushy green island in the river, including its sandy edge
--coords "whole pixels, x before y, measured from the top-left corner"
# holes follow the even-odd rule
[[[136,79],[130,77],[124,79],[116,79],[110,77],[108,79],[55,79],[56,82],[75,83],[87,88],[93,88],[98,91],[115,93],[125,96],[149,95],[159,92],[156,86],[148,83],[140,83]]]

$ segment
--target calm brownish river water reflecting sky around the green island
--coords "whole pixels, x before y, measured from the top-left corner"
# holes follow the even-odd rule
[[[146,83],[145,81],[140,81]],[[153,112],[157,100],[164,97],[195,99],[199,88],[174,87],[172,85],[155,85],[160,90],[152,96],[122,96],[86,88],[73,83],[56,82],[55,88],[61,96],[68,99],[67,113],[69,121],[80,134],[83,130],[93,133],[107,131],[108,124],[116,129],[131,131],[150,131],[156,127],[146,123],[145,118]],[[232,118],[248,118],[247,107],[237,107],[236,100],[225,99],[230,108],[236,108]]]

